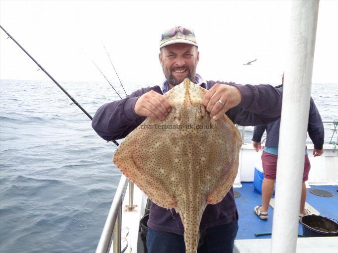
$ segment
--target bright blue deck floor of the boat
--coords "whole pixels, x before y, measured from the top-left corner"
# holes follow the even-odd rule
[[[321,197],[310,192],[311,189],[327,190],[334,194],[332,197]],[[255,236],[255,233],[271,233],[273,208],[269,206],[267,221],[260,220],[254,213],[254,207],[261,204],[261,194],[254,190],[253,182],[242,182],[241,188],[234,188],[241,196],[236,198],[239,212],[239,230],[236,240],[267,239],[271,235]],[[272,195],[272,198],[274,195]],[[338,220],[338,186],[311,186],[307,189],[306,202],[320,212],[321,216]],[[303,234],[299,223],[298,234]]]

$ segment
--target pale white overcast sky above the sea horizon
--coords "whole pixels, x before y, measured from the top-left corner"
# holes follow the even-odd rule
[[[159,84],[164,30],[195,31],[204,79],[280,83],[291,1],[0,0],[0,25],[56,80]],[[321,0],[313,82],[338,83],[338,0]],[[48,80],[0,30],[0,79]],[[102,45],[103,43],[103,45]],[[243,65],[257,59],[252,65]]]

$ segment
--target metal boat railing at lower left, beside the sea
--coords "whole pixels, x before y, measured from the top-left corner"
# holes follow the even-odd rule
[[[122,203],[129,186],[129,208],[133,207],[134,184],[122,175],[118,184],[108,217],[98,242],[96,253],[110,252],[113,242],[113,253],[121,253],[121,225],[122,225]]]

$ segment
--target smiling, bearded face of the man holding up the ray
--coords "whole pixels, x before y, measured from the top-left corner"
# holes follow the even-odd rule
[[[159,55],[163,73],[170,88],[180,84],[185,78],[195,81],[199,52],[193,45],[176,43],[162,48]]]

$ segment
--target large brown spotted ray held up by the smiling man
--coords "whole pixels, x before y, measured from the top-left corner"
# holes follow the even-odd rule
[[[207,204],[220,202],[234,183],[241,136],[224,115],[211,120],[207,91],[185,79],[164,96],[172,109],[165,121],[148,118],[117,148],[113,162],[150,199],[175,208],[184,227],[186,253],[196,253]]]

